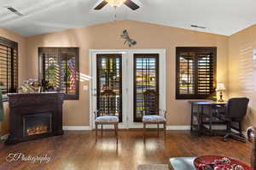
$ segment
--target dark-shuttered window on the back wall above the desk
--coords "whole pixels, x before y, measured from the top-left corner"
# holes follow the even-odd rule
[[[217,48],[176,48],[176,99],[211,99]]]

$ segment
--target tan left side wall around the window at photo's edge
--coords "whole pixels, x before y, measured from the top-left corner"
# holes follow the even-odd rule
[[[8,38],[9,40],[18,42],[18,52],[19,52],[19,84],[20,82],[26,80],[26,38],[21,37],[12,31],[8,31],[0,27],[0,37]],[[9,109],[8,103],[4,103],[4,121],[1,123],[2,131],[0,134],[8,133],[9,126]]]

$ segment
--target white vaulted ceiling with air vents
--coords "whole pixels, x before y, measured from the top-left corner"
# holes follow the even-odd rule
[[[139,20],[189,30],[230,36],[256,24],[256,0],[133,0],[141,5],[132,11],[125,5],[114,10],[91,10],[101,0],[0,0],[0,27],[23,36],[91,26],[114,20]],[[25,14],[20,17],[5,6]],[[206,26],[202,30],[191,25]]]

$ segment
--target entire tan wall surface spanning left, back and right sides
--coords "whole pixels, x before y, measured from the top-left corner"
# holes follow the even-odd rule
[[[125,20],[28,38],[0,28],[0,37],[19,42],[19,82],[21,82],[28,77],[38,77],[38,47],[79,47],[80,71],[88,75],[89,49],[126,48],[119,37],[124,29],[127,29],[131,37],[137,40],[136,48],[166,48],[166,103],[169,125],[189,124],[190,107],[187,100],[175,100],[175,47],[177,46],[217,46],[218,82],[226,83],[230,97],[248,96],[251,99],[244,124],[245,127],[256,124],[256,108],[253,105],[256,99],[254,90],[256,76],[253,74],[256,68],[253,60],[256,26],[251,26],[231,37],[223,37]],[[82,91],[83,85],[89,85],[89,82],[80,82],[79,101],[65,102],[65,125],[89,125],[89,91]],[[2,134],[8,132],[8,103],[5,103],[4,107],[6,119],[2,123]]]

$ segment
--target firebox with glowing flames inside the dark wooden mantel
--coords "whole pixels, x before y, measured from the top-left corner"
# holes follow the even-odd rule
[[[23,116],[23,136],[52,133],[52,113]]]

